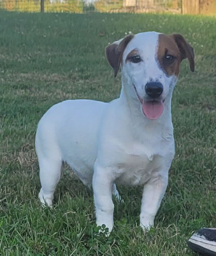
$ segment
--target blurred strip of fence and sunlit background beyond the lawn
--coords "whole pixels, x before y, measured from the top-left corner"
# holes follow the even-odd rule
[[[16,12],[131,12],[216,15],[216,0],[0,0]]]

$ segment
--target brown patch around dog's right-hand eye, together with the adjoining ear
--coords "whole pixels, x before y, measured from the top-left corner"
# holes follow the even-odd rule
[[[180,63],[189,59],[191,71],[194,71],[194,51],[182,35],[159,35],[157,58],[161,68],[168,76],[178,76]]]

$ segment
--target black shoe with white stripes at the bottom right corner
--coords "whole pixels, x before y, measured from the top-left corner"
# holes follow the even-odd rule
[[[216,256],[216,228],[202,228],[187,242],[192,251],[205,256]]]

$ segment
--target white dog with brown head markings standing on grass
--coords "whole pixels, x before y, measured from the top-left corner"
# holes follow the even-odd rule
[[[52,207],[62,161],[92,187],[96,223],[113,228],[115,184],[143,186],[140,225],[154,225],[175,154],[171,97],[180,63],[194,51],[179,34],[127,35],[106,47],[114,76],[121,67],[119,99],[66,100],[41,118],[36,132],[42,204]]]

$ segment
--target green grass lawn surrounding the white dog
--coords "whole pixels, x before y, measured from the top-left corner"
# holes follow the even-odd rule
[[[180,15],[0,13],[0,255],[195,255],[194,230],[216,226],[216,19]],[[104,47],[129,31],[182,33],[194,46],[173,95],[176,156],[169,185],[143,234],[141,188],[120,187],[115,228],[97,236],[92,192],[64,166],[54,209],[41,209],[36,126],[66,99],[109,101],[120,92]]]

